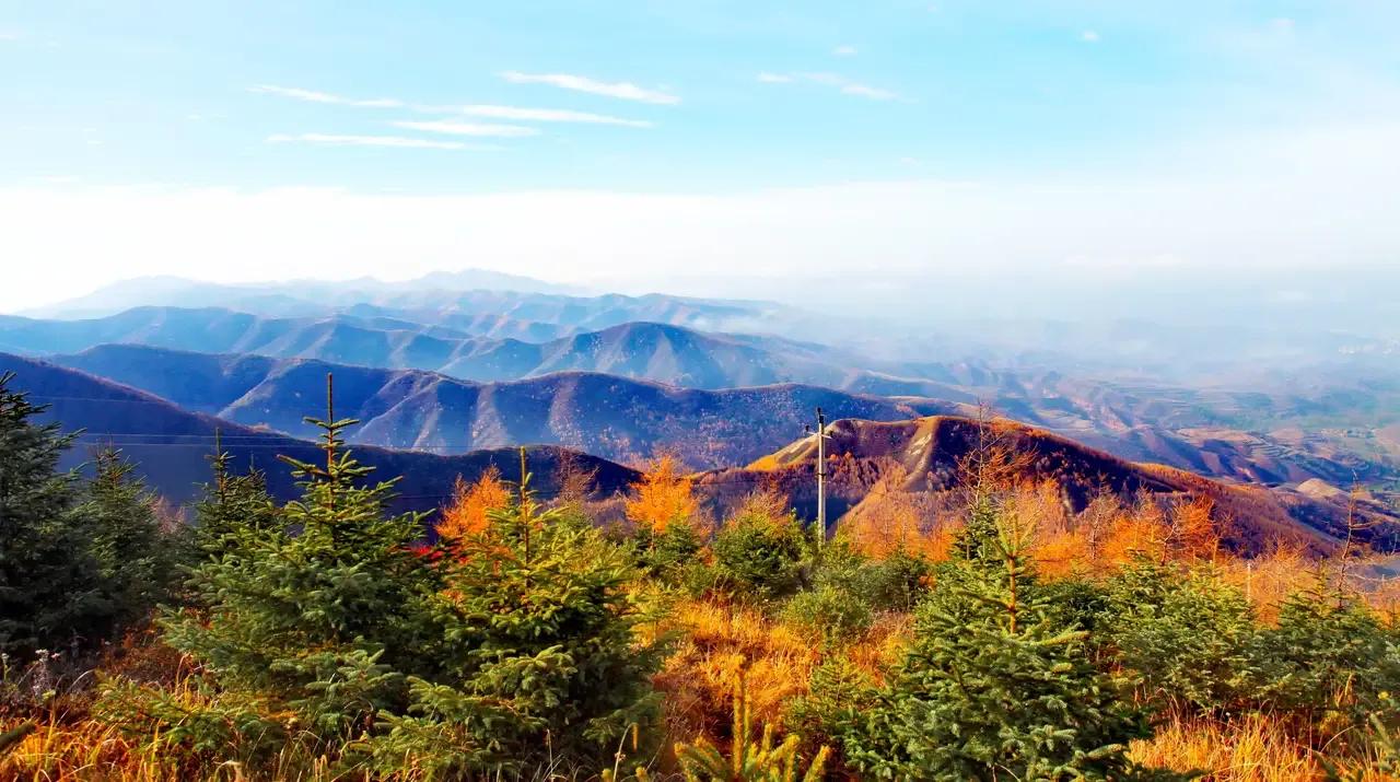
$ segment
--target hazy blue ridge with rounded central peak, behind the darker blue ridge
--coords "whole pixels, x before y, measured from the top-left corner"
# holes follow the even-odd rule
[[[217,308],[137,308],[91,320],[0,318],[0,350],[10,353],[49,355],[108,343],[430,369],[468,381],[577,369],[687,388],[734,388],[840,385],[850,374],[841,357],[820,346],[650,322],[528,343],[392,318],[260,318]]]

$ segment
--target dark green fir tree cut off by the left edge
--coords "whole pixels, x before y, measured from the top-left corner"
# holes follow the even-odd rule
[[[46,410],[0,374],[0,651],[94,644],[108,624],[87,530],[73,515],[76,477],[59,473],[76,435],[38,424]]]

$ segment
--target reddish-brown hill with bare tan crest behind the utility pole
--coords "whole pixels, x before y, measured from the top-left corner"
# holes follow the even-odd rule
[[[1215,501],[1218,518],[1228,519],[1225,541],[1247,553],[1257,553],[1274,540],[1326,551],[1345,533],[1345,492],[1221,483],[1161,464],[1127,462],[1025,424],[1007,420],[988,424],[956,415],[832,424],[826,446],[833,476],[830,518],[860,512],[871,490],[890,476],[899,485],[886,487],[888,491],[920,494],[959,488],[958,464],[977,448],[983,427],[994,427],[1016,452],[1032,455],[1019,478],[1054,480],[1065,502],[1077,511],[1100,491],[1112,491],[1123,499],[1141,492],[1161,497],[1205,494]],[[707,473],[700,485],[713,487],[711,497],[724,504],[756,484],[771,484],[787,491],[798,506],[811,509],[815,463],[816,439],[808,436],[748,467]],[[1382,551],[1400,548],[1400,513],[1394,508],[1362,501],[1355,512],[1364,522],[1366,541]]]

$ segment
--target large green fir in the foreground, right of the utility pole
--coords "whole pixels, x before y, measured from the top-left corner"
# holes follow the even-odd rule
[[[1121,779],[1145,715],[1093,667],[1086,634],[1033,588],[1029,532],[998,523],[941,569],[916,641],[847,736],[853,765],[897,779]],[[990,557],[991,553],[998,560]]]

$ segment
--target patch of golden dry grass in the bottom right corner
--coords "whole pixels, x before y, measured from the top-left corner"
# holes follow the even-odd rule
[[[1319,755],[1275,719],[1249,715],[1233,722],[1172,720],[1149,741],[1134,741],[1133,760],[1173,771],[1203,771],[1210,782],[1305,782],[1327,779]],[[1362,771],[1366,758],[1330,762],[1345,772]],[[1368,782],[1394,781],[1366,772]]]

